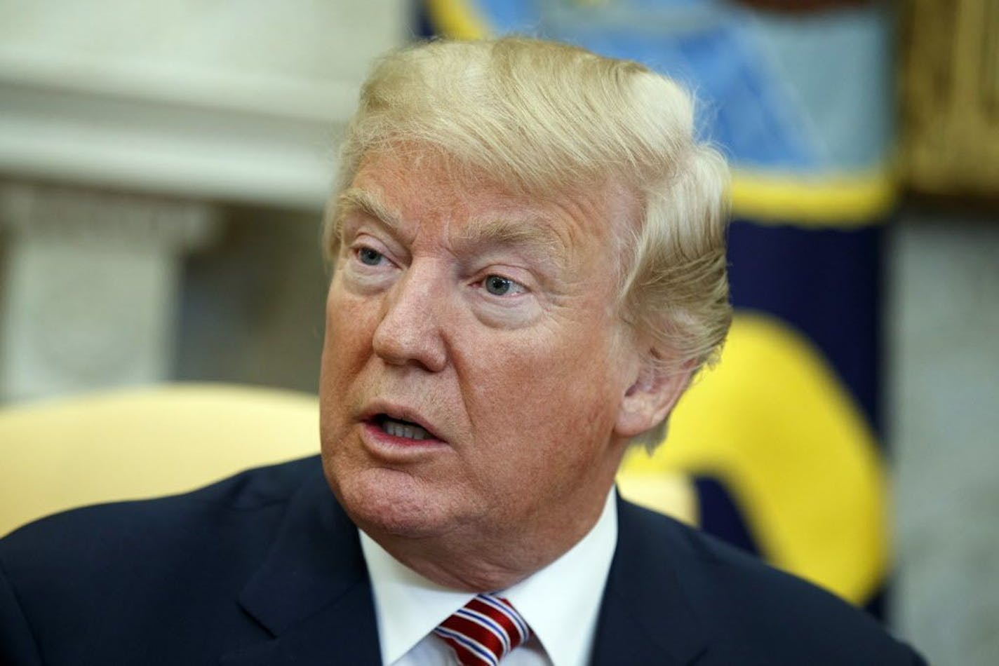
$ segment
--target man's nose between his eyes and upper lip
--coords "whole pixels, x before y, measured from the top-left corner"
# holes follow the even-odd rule
[[[410,267],[383,302],[372,346],[392,365],[419,365],[440,372],[448,362],[441,330],[447,288],[429,270]]]

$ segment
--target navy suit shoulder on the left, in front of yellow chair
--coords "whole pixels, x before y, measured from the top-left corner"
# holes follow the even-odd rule
[[[240,595],[289,521],[321,531],[332,498],[313,457],[26,525],[0,539],[0,662],[202,663],[259,640]]]

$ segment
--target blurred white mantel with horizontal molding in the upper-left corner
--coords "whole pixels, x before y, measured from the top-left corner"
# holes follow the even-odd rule
[[[0,10],[0,178],[317,210],[402,0]]]

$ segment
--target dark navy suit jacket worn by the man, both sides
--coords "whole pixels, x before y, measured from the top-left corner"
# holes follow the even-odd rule
[[[595,664],[919,664],[847,604],[620,502]],[[378,664],[357,529],[318,458],[0,540],[0,664]]]

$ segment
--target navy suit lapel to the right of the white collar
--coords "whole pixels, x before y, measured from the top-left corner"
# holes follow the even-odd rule
[[[691,663],[707,649],[707,636],[679,584],[679,544],[661,516],[619,498],[617,527],[592,663]]]

